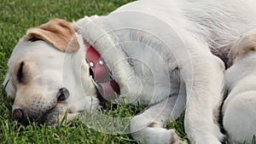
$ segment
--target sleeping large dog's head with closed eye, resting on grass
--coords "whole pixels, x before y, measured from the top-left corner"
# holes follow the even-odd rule
[[[84,60],[84,43],[66,20],[29,29],[9,59],[5,85],[14,100],[12,118],[56,124],[93,109],[96,89]],[[83,48],[83,49],[82,49]]]

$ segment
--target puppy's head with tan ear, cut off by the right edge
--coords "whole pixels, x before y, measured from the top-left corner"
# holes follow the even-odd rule
[[[242,78],[254,77],[256,64],[256,29],[245,32],[230,43],[229,58],[232,60],[225,72],[226,89],[233,89]],[[252,78],[253,79],[253,78]]]

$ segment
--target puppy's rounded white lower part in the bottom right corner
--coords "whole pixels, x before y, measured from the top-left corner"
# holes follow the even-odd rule
[[[256,92],[249,91],[225,102],[224,129],[229,135],[230,143],[253,141],[253,135],[256,135],[255,95]]]

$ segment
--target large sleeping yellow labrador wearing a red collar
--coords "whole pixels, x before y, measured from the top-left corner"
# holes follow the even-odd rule
[[[185,143],[163,125],[186,107],[189,141],[220,144],[225,68],[216,55],[226,61],[225,46],[256,26],[255,5],[142,0],[105,16],[55,19],[29,29],[9,59],[12,118],[56,124],[66,112],[67,121],[96,112],[104,100],[140,101],[148,109],[131,119],[137,141]]]

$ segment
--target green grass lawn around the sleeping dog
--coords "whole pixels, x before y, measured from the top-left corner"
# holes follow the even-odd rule
[[[39,26],[53,18],[68,21],[78,20],[84,15],[108,14],[119,6],[132,0],[73,0],[73,1],[32,1],[32,0],[1,0],[0,3],[0,84],[8,71],[7,62],[15,43],[26,30]],[[143,107],[119,106],[114,111],[102,110],[110,117],[131,118]],[[10,119],[11,101],[6,99],[3,87],[0,92],[0,143],[137,143],[131,135],[110,135],[90,129],[78,119],[66,126],[56,127],[35,123],[23,126]],[[166,125],[175,127],[183,137],[182,118],[176,123]]]

